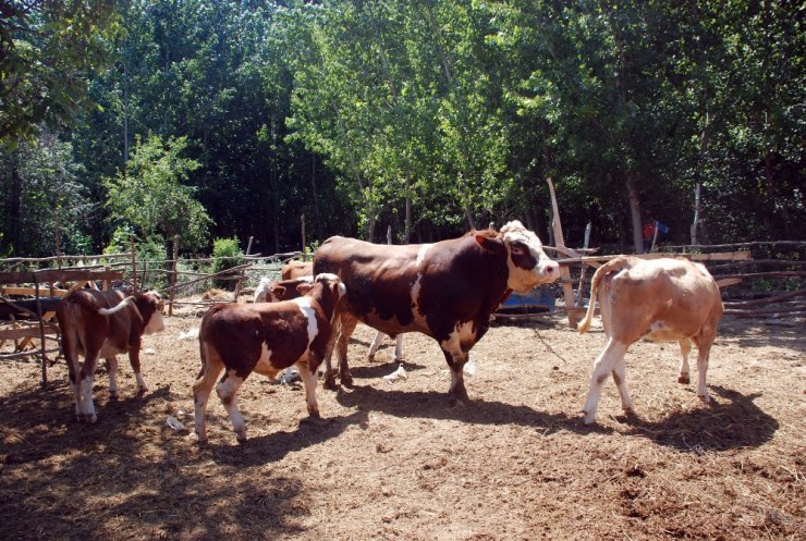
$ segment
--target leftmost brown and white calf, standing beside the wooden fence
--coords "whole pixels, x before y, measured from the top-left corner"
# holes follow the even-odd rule
[[[117,355],[127,353],[137,380],[138,392],[148,390],[141,373],[139,349],[144,334],[164,329],[164,302],[158,293],[129,294],[121,290],[78,290],[57,306],[62,351],[68,364],[70,385],[75,395],[75,415],[80,422],[96,422],[93,383],[98,359],[109,369],[109,392],[118,396]],[[84,364],[78,355],[84,355]]]

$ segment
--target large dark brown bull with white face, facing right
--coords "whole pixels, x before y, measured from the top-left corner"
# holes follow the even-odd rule
[[[462,369],[489,329],[490,315],[512,291],[525,293],[560,275],[537,235],[518,221],[435,244],[335,236],[317,250],[314,270],[338,274],[347,286],[337,344],[342,383],[352,383],[347,343],[363,321],[391,336],[422,332],[433,337],[451,369],[452,402],[467,399]]]

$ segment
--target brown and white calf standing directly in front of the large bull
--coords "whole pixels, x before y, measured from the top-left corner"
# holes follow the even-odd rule
[[[305,385],[308,414],[319,416],[316,370],[330,341],[335,305],[344,284],[333,274],[319,274],[298,285],[301,297],[279,303],[225,304],[202,318],[202,370],[193,384],[196,434],[207,441],[205,411],[212,386],[232,420],[239,441],[246,440],[246,425],[237,409],[236,394],[252,372],[274,378],[295,365]]]

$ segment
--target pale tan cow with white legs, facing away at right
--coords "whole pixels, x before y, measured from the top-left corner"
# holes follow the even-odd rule
[[[706,388],[708,355],[722,318],[722,298],[708,270],[687,259],[640,259],[620,256],[597,269],[590,284],[590,304],[579,332],[587,332],[599,300],[601,322],[608,339],[594,362],[590,390],[583,413],[594,422],[601,385],[613,374],[621,405],[633,410],[625,382],[624,355],[640,339],[677,342],[683,359],[680,383],[688,383],[688,354],[697,346],[697,396],[710,402]]]

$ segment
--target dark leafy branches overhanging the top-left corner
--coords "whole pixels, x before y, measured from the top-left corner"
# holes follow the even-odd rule
[[[110,58],[109,0],[0,0],[0,143],[71,123],[89,106],[87,77]]]

